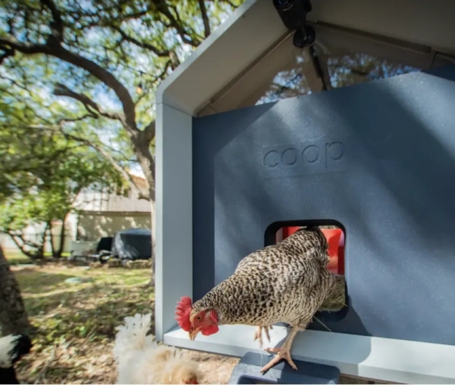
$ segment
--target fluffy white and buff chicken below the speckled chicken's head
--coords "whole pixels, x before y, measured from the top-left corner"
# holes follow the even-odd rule
[[[151,314],[126,317],[116,328],[117,384],[199,384],[198,364],[147,335]]]

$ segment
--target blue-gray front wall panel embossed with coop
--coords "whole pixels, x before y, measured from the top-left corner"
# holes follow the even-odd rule
[[[194,300],[272,223],[332,220],[348,306],[325,325],[455,344],[454,80],[447,66],[195,118]]]

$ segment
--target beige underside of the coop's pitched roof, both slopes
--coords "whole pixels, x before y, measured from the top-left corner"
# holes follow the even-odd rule
[[[323,37],[328,43],[353,50],[360,48],[362,52],[403,64],[428,67],[444,54],[455,56],[453,1],[313,0],[311,3],[313,10],[307,20],[314,23],[316,38]],[[270,63],[267,57],[280,49],[288,35],[272,0],[246,1],[160,85],[157,104],[164,103],[196,116],[225,98],[225,93],[236,83],[253,89],[254,84],[244,81],[244,76],[250,72],[258,83],[266,78],[267,73],[255,66],[261,61],[266,61],[268,68],[277,65],[276,60]],[[278,52],[274,56],[278,57]],[[234,98],[241,98],[242,94],[237,85]],[[236,108],[235,102],[232,106]]]

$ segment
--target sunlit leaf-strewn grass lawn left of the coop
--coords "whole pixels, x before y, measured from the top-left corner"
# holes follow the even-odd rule
[[[22,289],[34,348],[18,365],[27,384],[113,384],[111,349],[125,316],[153,311],[149,269],[12,266]],[[68,278],[83,282],[66,283]]]

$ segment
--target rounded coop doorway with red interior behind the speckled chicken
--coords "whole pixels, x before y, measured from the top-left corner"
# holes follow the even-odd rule
[[[277,244],[290,237],[300,228],[317,225],[328,241],[329,271],[335,275],[333,293],[323,302],[319,311],[337,313],[347,309],[347,288],[344,279],[344,244],[346,231],[337,221],[281,221],[274,222],[265,230],[265,246]],[[341,314],[339,314],[341,315]]]

